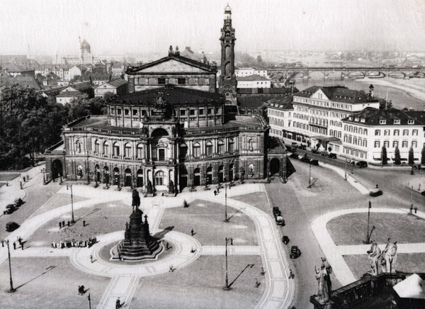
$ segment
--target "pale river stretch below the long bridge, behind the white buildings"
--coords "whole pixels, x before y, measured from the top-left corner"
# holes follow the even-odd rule
[[[304,90],[310,86],[346,86],[349,89],[369,91],[373,84],[374,95],[388,98],[392,106],[402,109],[404,107],[416,111],[425,111],[425,78],[422,79],[295,79],[295,87]]]

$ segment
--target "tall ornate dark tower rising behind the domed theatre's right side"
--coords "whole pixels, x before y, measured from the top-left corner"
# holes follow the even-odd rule
[[[237,80],[234,74],[234,28],[232,28],[232,9],[225,7],[225,23],[221,30],[221,75],[218,81],[220,94],[225,96],[226,105],[237,105]]]

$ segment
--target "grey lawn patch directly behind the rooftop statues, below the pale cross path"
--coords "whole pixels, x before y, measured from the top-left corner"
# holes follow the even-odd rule
[[[361,255],[344,255],[344,259],[351,271],[353,271],[356,279],[370,271],[368,254]],[[402,253],[397,254],[397,262],[395,264],[397,271],[406,271],[411,273],[423,273],[425,269],[424,253]],[[381,269],[379,269],[381,272]]]

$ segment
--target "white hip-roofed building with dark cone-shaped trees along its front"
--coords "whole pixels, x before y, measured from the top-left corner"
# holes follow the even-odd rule
[[[342,152],[345,157],[380,163],[382,147],[385,147],[391,163],[398,147],[402,162],[407,163],[411,148],[414,160],[420,162],[421,150],[425,146],[424,111],[365,108],[344,118],[342,123]]]

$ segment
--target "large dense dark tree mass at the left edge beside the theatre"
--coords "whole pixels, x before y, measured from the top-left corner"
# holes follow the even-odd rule
[[[28,155],[60,140],[64,109],[52,105],[40,92],[18,84],[6,86],[0,96],[0,169],[23,168]]]

